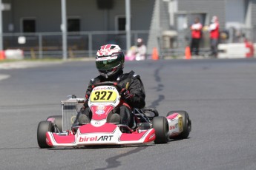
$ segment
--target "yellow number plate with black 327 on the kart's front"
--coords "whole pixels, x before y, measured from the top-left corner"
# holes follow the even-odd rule
[[[116,92],[114,90],[97,90],[90,95],[91,102],[114,102],[116,101]]]

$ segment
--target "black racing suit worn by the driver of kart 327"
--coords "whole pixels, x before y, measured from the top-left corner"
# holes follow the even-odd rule
[[[118,109],[114,110],[114,112],[120,115],[120,123],[132,127],[134,125],[134,117],[131,114],[131,109],[142,109],[143,107],[145,107],[145,89],[142,81],[140,80],[140,75],[134,75],[133,71],[124,74],[122,70],[116,75],[109,78],[105,78],[102,75],[99,75],[98,77],[91,79],[90,83],[88,84],[88,88],[86,89],[85,96],[91,94],[93,84],[104,81],[116,82],[117,84],[122,86],[122,88],[128,89],[128,91],[131,93],[132,97],[125,99],[125,103],[128,103],[131,108],[122,105]],[[88,98],[88,96],[86,96],[85,98]],[[88,118],[91,120],[92,113],[86,103],[87,102],[85,102],[84,111],[78,113],[75,123],[77,122],[80,114],[87,115]]]

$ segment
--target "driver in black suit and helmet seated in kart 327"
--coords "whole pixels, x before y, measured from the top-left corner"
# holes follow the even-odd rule
[[[125,55],[121,48],[115,44],[106,44],[99,47],[96,52],[96,68],[99,70],[99,76],[91,79],[85,92],[84,107],[76,116],[73,126],[89,123],[92,113],[88,107],[88,98],[91,95],[93,84],[104,81],[116,82],[122,86],[121,101],[119,108],[115,108],[108,122],[121,123],[129,127],[134,126],[134,116],[131,114],[132,108],[142,109],[145,106],[145,90],[140,80],[140,75],[135,75],[133,71],[123,73]],[[116,114],[117,113],[117,114]]]

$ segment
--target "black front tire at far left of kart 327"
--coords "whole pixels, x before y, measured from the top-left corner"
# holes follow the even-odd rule
[[[50,148],[46,143],[46,132],[54,132],[53,123],[50,121],[41,121],[37,127],[37,143],[40,148]]]

